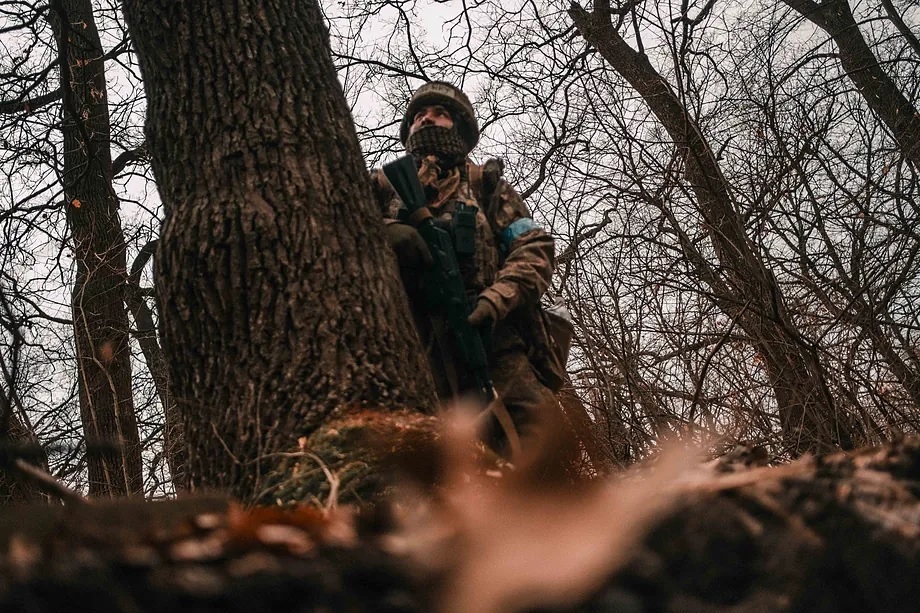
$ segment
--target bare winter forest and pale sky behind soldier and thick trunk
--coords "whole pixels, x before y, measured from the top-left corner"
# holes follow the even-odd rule
[[[502,157],[557,237],[596,465],[675,433],[784,459],[916,432],[912,3],[322,8],[368,167],[400,153],[411,91],[455,82],[476,159]],[[121,7],[0,11],[0,425],[78,490],[169,496],[162,211]]]

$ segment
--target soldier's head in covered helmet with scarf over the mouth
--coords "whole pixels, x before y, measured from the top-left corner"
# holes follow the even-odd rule
[[[479,142],[479,123],[466,94],[450,83],[431,81],[412,94],[399,137],[415,157],[435,155],[458,164]]]

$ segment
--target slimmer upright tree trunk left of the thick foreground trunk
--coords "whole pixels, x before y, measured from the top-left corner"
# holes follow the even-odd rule
[[[91,496],[139,494],[141,452],[124,304],[125,239],[112,188],[102,45],[90,0],[52,3],[63,88],[73,321]]]

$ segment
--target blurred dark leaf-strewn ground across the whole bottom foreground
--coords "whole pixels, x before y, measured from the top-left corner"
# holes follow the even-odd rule
[[[640,534],[629,510],[652,507],[630,496],[648,496],[634,484],[654,472],[565,492],[502,479],[479,485],[492,498],[448,489],[460,505],[504,500],[475,524],[456,519],[456,508],[438,515],[421,497],[361,514],[194,499],[9,508],[0,515],[0,611],[916,610],[920,439],[779,467],[692,466],[652,488],[669,510],[660,519],[650,511]],[[579,500],[597,511],[615,488],[625,499],[602,523],[579,516]],[[558,519],[571,547],[553,545],[512,570],[470,568],[502,568],[501,555],[477,557],[473,532],[498,552],[504,543],[519,550],[528,518],[540,514]],[[632,538],[605,540],[621,528]],[[553,526],[542,534],[551,541]],[[622,561],[590,551],[607,542],[620,543]],[[592,574],[602,579],[578,579]],[[535,603],[540,594],[547,601]]]

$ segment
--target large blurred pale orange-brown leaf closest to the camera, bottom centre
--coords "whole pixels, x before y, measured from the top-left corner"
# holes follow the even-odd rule
[[[404,508],[414,510],[387,547],[449,570],[444,613],[565,606],[589,596],[677,502],[676,478],[697,463],[695,450],[672,446],[644,476],[541,489],[526,475],[495,480],[477,470],[475,427],[462,416],[443,440],[450,472],[442,500],[430,509],[408,501]]]

